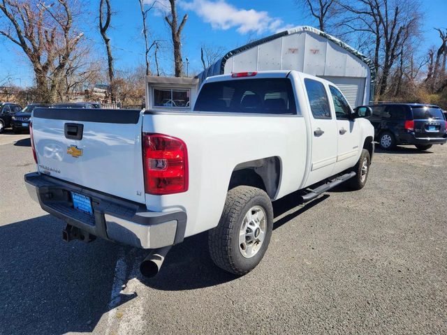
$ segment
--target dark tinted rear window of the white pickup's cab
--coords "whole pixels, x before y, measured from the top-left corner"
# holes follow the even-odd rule
[[[204,84],[194,111],[296,114],[291,80],[258,78]]]

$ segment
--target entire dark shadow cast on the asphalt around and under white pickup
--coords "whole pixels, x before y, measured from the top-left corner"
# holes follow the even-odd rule
[[[305,207],[299,206],[295,193],[274,202],[274,229],[325,198],[328,195]],[[64,225],[44,215],[0,226],[2,334],[93,332],[105,313],[138,297],[136,292],[120,293],[121,286],[114,292],[118,260],[126,265],[120,278],[124,285],[137,278],[155,290],[207,288],[238,278],[214,265],[207,232],[174,246],[160,273],[144,278],[135,269],[147,251],[102,239],[66,244],[61,239]]]

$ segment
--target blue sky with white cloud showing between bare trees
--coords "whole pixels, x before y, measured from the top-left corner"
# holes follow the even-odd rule
[[[116,68],[131,68],[144,64],[144,44],[141,36],[141,17],[138,0],[111,0],[115,15],[112,17],[110,38],[116,59]],[[159,0],[161,3],[166,0]],[[178,0],[179,16],[189,14],[183,34],[183,57],[189,58],[190,73],[198,71],[200,45],[214,45],[229,51],[244,45],[248,40],[262,38],[287,27],[316,25],[312,18],[303,13],[295,0]],[[149,2],[149,0],[148,0]],[[78,24],[78,29],[88,36],[94,57],[104,57],[104,47],[97,30],[98,0],[85,1],[85,8],[91,20]],[[439,36],[434,27],[447,28],[446,0],[423,0],[424,38],[421,50],[439,44]],[[149,29],[154,38],[165,40],[159,53],[161,68],[170,75],[173,70],[173,56],[170,50],[170,33],[163,20],[163,6],[149,15]],[[179,18],[181,20],[181,17]],[[0,38],[0,85],[29,85],[33,73],[29,61],[12,43]],[[10,77],[5,81],[6,77]]]

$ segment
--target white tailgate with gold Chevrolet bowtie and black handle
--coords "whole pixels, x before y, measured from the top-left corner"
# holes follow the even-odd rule
[[[140,110],[37,108],[32,128],[39,172],[145,202]]]

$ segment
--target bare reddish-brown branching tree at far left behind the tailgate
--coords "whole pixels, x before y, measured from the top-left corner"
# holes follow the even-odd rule
[[[55,102],[67,62],[83,36],[82,32],[73,32],[73,16],[80,13],[79,3],[1,0],[0,10],[6,17],[0,35],[20,46],[31,61],[38,100]]]

